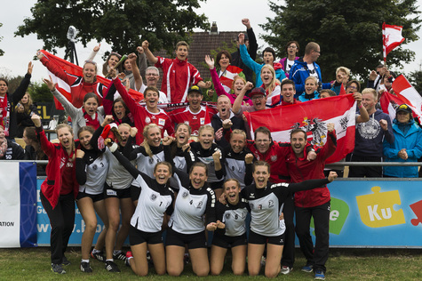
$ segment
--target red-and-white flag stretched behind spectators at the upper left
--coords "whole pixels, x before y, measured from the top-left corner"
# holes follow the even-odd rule
[[[41,50],[40,52],[44,53],[44,56],[46,56],[49,60],[51,60],[53,63],[55,63],[56,65],[58,65],[60,68],[62,68],[65,72],[67,72],[68,74],[74,75],[74,76],[84,76],[82,73],[82,68],[71,63],[68,62],[68,60],[63,60],[60,59],[59,57],[53,55],[50,52],[46,52],[44,50]],[[57,83],[57,90],[59,90],[59,92],[61,92],[61,94],[63,94],[69,101],[72,100],[72,94],[70,92],[70,85],[67,84],[65,81],[61,80],[58,76],[55,76],[54,74],[52,74],[52,72],[48,71],[49,76],[52,76],[52,81],[54,83]],[[97,79],[101,84],[104,85],[108,85],[110,84],[110,80],[104,78],[103,76],[99,76],[97,75]],[[144,99],[144,95],[140,92],[136,92],[132,89],[129,90],[129,94],[131,94],[131,97],[136,100],[136,101],[140,101]],[[56,100],[54,98],[54,103],[56,105],[56,108],[58,109],[64,109],[59,100]]]

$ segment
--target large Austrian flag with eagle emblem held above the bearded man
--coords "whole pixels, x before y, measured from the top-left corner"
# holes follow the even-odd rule
[[[291,130],[301,128],[307,132],[308,141],[320,146],[327,140],[327,124],[335,124],[337,149],[327,159],[327,163],[334,163],[354,149],[355,112],[354,98],[346,94],[245,113],[245,116],[251,132],[266,126],[274,141],[290,142]]]

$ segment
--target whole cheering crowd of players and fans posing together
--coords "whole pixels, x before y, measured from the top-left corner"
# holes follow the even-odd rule
[[[76,76],[37,52],[43,65],[70,86],[68,100],[52,78],[44,79],[71,117],[71,125],[56,127],[57,142],[47,139],[26,93],[32,64],[12,94],[0,79],[0,159],[49,160],[40,198],[52,226],[53,272],[66,273],[63,265],[69,264],[65,252],[76,201],[85,222],[83,272],[92,272],[93,258],[105,262],[110,272],[119,272],[115,260],[123,260],[137,275],[146,276],[150,259],[156,274],[179,276],[187,251],[197,276],[219,275],[230,248],[235,275],[244,273],[246,257],[249,275],[258,275],[266,256],[265,275],[276,277],[293,269],[296,233],[307,259],[301,270],[314,271],[316,279],[324,279],[330,221],[326,185],[343,173],[339,168],[324,174],[325,160],[337,146],[334,124],[326,124],[322,147],[309,144],[302,129],[292,130],[291,142],[282,143],[273,140],[267,127],[251,132],[243,112],[330,98],[341,91],[352,93],[357,112],[351,161],[378,162],[385,156],[387,161],[402,162],[422,157],[418,142],[422,130],[411,108],[400,105],[393,122],[377,108],[380,94],[392,92],[394,76],[386,68],[380,66],[371,73],[361,92],[361,84],[349,80],[350,70],[345,67],[336,70],[336,80],[322,83],[316,64],[321,50],[314,42],[307,44],[303,57],[298,57],[299,43],[289,42],[286,57],[280,61],[275,61],[275,51],[268,47],[264,63],[259,64],[251,23],[243,19],[243,24],[247,36],[238,36],[237,52],[221,51],[215,62],[205,57],[212,82],[203,81],[187,62],[189,45],[183,41],[176,44],[176,59],[155,57],[147,41],[137,48],[138,55],[129,54],[121,64],[122,56],[111,52],[102,69],[108,84],[97,80],[92,58],[84,62],[82,75]],[[99,48],[94,48],[92,56]],[[155,66],[147,68],[147,60]],[[231,87],[222,83],[232,75],[229,65],[243,68]],[[163,70],[161,91],[156,88],[158,68]],[[208,94],[215,95],[216,108],[202,104],[204,90],[211,85]],[[130,89],[142,92],[142,103],[131,97]],[[186,108],[170,112],[159,107],[159,103],[185,101]],[[18,136],[17,124],[27,122],[28,128],[22,131],[28,140],[25,153],[12,140]],[[418,169],[389,167],[383,172],[378,167],[351,167],[349,176],[383,174],[413,177],[418,176]],[[91,249],[96,214],[105,229]],[[210,259],[207,231],[214,232]],[[123,253],[128,236],[131,251]]]

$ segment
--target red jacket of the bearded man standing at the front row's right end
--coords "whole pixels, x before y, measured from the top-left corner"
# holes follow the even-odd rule
[[[307,161],[307,151],[304,157],[296,157],[293,149],[286,157],[287,168],[291,176],[291,182],[301,182],[312,179],[324,179],[323,168],[325,160],[330,157],[337,148],[336,132],[329,132],[327,142],[319,150],[314,161]],[[295,205],[302,208],[315,207],[330,201],[330,190],[327,186],[295,192]]]

